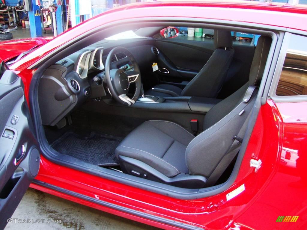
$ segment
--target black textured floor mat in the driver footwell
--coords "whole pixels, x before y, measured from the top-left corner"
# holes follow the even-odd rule
[[[116,166],[115,148],[122,138],[91,132],[89,136],[81,136],[74,132],[66,132],[51,146],[54,150],[98,166]]]

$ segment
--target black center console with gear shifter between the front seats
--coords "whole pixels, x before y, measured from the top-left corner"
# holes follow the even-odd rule
[[[142,96],[131,106],[121,105],[112,98],[109,98],[88,100],[82,108],[91,112],[139,118],[144,121],[172,121],[190,132],[200,133],[203,131],[203,122],[206,113],[220,101],[220,99],[201,97]],[[196,128],[192,127],[192,120],[197,120]]]

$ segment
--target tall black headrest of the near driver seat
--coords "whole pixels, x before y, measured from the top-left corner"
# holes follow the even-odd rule
[[[253,62],[251,63],[251,70],[249,75],[249,85],[256,85],[262,78],[264,67],[266,66],[266,59],[269,55],[272,38],[260,36],[255,49]]]

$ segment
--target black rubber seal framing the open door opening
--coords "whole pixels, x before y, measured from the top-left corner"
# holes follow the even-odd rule
[[[163,21],[165,20],[165,21]],[[137,21],[137,22],[135,22]],[[96,31],[91,32],[89,34],[84,35],[82,38],[78,39],[74,44],[70,44],[70,48],[66,49],[68,47],[65,46],[61,49],[59,49],[60,51],[58,52],[58,54],[54,55],[52,58],[48,59],[45,62],[42,62],[43,64],[39,67],[39,69],[34,73],[32,81],[31,81],[31,85],[30,85],[30,90],[29,90],[29,100],[30,100],[30,105],[31,105],[31,113],[33,115],[33,121],[34,124],[36,124],[36,132],[37,132],[37,136],[38,139],[40,141],[41,144],[41,151],[43,153],[43,155],[45,156],[46,159],[59,164],[59,165],[63,165],[63,166],[68,166],[71,167],[73,169],[79,170],[79,171],[83,171],[86,173],[91,173],[93,175],[97,175],[103,178],[107,178],[119,183],[123,183],[123,184],[128,184],[130,186],[134,186],[134,187],[138,187],[138,188],[142,188],[145,190],[149,190],[155,193],[159,193],[159,194],[163,194],[163,195],[167,195],[170,197],[175,197],[175,198],[179,198],[179,199],[199,199],[199,198],[204,198],[204,197],[208,197],[208,196],[212,196],[212,195],[216,195],[219,194],[223,191],[225,191],[226,189],[228,189],[233,182],[235,181],[235,178],[238,174],[239,171],[239,167],[241,165],[243,156],[244,156],[244,152],[246,150],[247,147],[247,143],[248,140],[251,136],[251,132],[252,129],[254,127],[257,115],[258,115],[258,111],[260,109],[260,94],[263,91],[263,87],[260,86],[260,90],[259,90],[259,94],[257,96],[257,100],[256,103],[254,105],[254,111],[251,115],[251,120],[249,122],[249,127],[247,128],[247,133],[246,133],[246,139],[243,141],[243,144],[241,146],[241,150],[239,152],[237,161],[235,163],[235,167],[230,175],[230,177],[228,178],[228,180],[220,185],[217,186],[213,186],[213,187],[209,187],[209,188],[203,188],[203,189],[182,189],[182,188],[177,188],[177,187],[173,187],[173,186],[168,186],[168,185],[164,185],[161,183],[156,183],[156,182],[152,182],[152,181],[147,181],[145,179],[142,178],[137,178],[134,176],[130,176],[130,175],[123,175],[121,174],[120,176],[118,174],[115,174],[116,172],[112,172],[110,173],[109,170],[103,169],[103,168],[98,168],[98,167],[84,167],[84,165],[80,165],[80,164],[70,164],[70,162],[64,162],[61,159],[56,159],[55,156],[57,156],[57,153],[52,150],[48,144],[48,142],[46,141],[45,138],[45,134],[44,134],[44,129],[42,126],[40,126],[39,124],[41,124],[41,118],[40,118],[40,114],[39,114],[39,110],[36,109],[38,108],[38,102],[37,102],[37,86],[38,86],[38,82],[39,79],[42,75],[42,71],[47,68],[48,66],[50,66],[52,63],[56,62],[57,59],[61,59],[64,58],[65,56],[67,56],[68,54],[75,52],[77,50],[80,49],[80,47],[85,47],[86,45],[88,45],[91,41],[95,40],[95,37],[105,37],[108,35],[111,35],[111,31],[121,31],[123,28],[127,29],[127,25],[129,25],[131,28],[136,27],[138,25],[142,25],[145,26],[147,23],[149,25],[169,25],[169,24],[173,24],[173,25],[181,25],[181,26],[188,26],[188,27],[206,27],[206,28],[221,28],[221,29],[228,29],[228,30],[232,30],[232,31],[244,31],[244,32],[250,32],[250,33],[255,33],[255,34],[262,34],[262,35],[266,35],[266,36],[271,36],[273,37],[273,42],[272,42],[272,47],[275,48],[276,42],[277,42],[277,35],[279,33],[279,29],[280,30],[285,30],[285,28],[281,28],[281,27],[274,27],[274,26],[269,26],[269,25],[256,25],[256,24],[251,24],[251,23],[243,23],[243,22],[234,22],[234,21],[223,21],[223,20],[210,20],[210,19],[198,19],[197,22],[195,22],[195,19],[190,19],[190,18],[178,18],[177,20],[174,20],[173,18],[169,18],[169,17],[160,17],[160,18],[146,18],[146,20],[144,20],[142,23],[139,22],[140,19],[129,19],[129,20],[123,20],[123,21],[118,21],[116,23],[110,23],[108,24],[108,26],[101,26],[101,27],[97,27]],[[154,22],[153,22],[154,21]],[[185,21],[184,23],[182,21]],[[134,24],[134,23],[135,24]],[[200,23],[203,22],[203,23]],[[212,23],[212,24],[210,24]],[[228,24],[228,26],[227,26]],[[117,27],[115,27],[117,26]],[[243,26],[245,26],[245,28],[243,28]],[[256,28],[256,29],[255,29]],[[272,32],[272,31],[275,32]],[[103,34],[103,36],[100,36],[101,34]],[[99,36],[97,36],[99,35]],[[86,37],[85,37],[86,36]],[[87,39],[86,39],[87,38]],[[86,40],[86,41],[85,41]],[[271,48],[271,51],[272,49]],[[271,59],[268,58],[268,63],[267,66],[270,65],[270,61]],[[36,64],[34,64],[36,65]],[[266,77],[265,77],[266,78]],[[262,81],[262,86],[264,86],[265,80]],[[98,168],[98,169],[97,169]]]

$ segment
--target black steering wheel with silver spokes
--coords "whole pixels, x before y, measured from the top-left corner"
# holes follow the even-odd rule
[[[130,59],[133,65],[132,70],[125,71],[125,67],[111,69],[112,57],[120,52],[124,53]],[[105,70],[107,86],[112,97],[122,105],[133,105],[138,100],[142,84],[140,69],[134,56],[124,47],[115,47],[107,56]],[[135,92],[132,99],[127,96],[130,83],[135,83]]]

